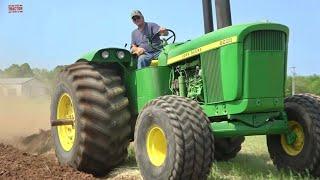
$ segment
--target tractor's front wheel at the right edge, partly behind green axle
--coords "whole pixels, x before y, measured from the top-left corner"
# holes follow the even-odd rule
[[[285,135],[268,135],[270,157],[278,169],[320,176],[320,102],[309,94],[285,100],[288,124],[296,134],[292,143]]]

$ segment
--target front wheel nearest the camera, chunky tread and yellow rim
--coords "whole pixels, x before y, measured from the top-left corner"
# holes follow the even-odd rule
[[[214,161],[209,119],[195,101],[159,97],[139,114],[135,152],[144,179],[205,179]]]

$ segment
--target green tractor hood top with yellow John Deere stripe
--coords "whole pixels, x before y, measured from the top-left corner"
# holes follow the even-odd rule
[[[200,53],[216,49],[228,44],[242,43],[245,37],[252,31],[277,30],[287,35],[287,26],[275,23],[251,23],[229,26],[217,31],[205,34],[199,38],[183,44],[175,44],[175,47],[168,48],[159,58],[159,65],[174,64],[184,59],[199,55]],[[164,56],[166,56],[164,58]]]

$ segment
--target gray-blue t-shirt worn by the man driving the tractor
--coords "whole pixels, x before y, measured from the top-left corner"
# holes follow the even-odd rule
[[[153,35],[155,35],[160,29],[160,26],[156,23],[152,22],[145,22],[145,26],[142,31],[139,29],[135,29],[132,31],[131,34],[131,44],[142,47],[143,49],[146,50],[146,52],[155,52],[157,50],[153,49],[149,45],[149,40],[151,39]],[[154,37],[152,40],[152,44],[155,47],[160,47],[161,45],[161,40],[158,35]]]

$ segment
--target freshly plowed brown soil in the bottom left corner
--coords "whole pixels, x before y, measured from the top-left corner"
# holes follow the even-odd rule
[[[0,144],[0,179],[94,179],[92,175],[60,166],[48,154],[32,155]]]

